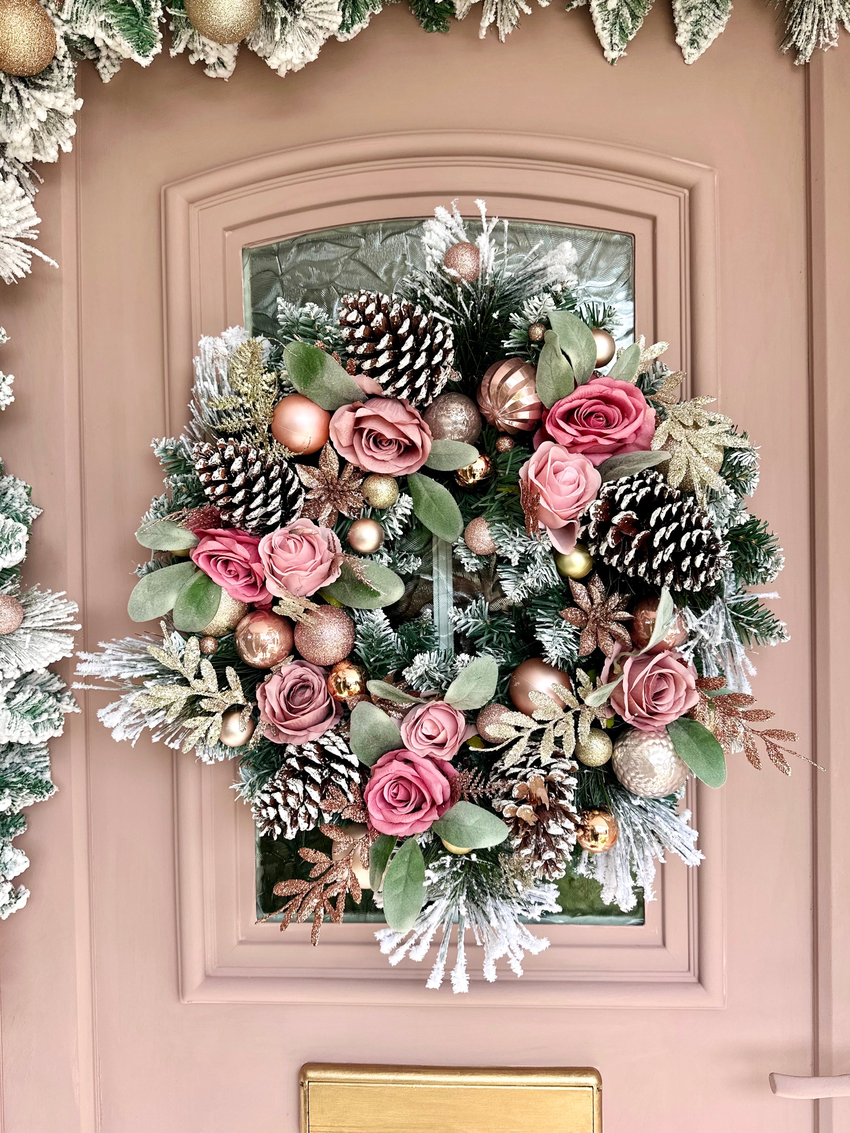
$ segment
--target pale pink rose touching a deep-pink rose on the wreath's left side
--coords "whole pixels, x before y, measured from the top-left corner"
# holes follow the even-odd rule
[[[260,540],[265,585],[279,598],[286,590],[306,598],[335,582],[342,570],[341,554],[339,536],[330,527],[316,527],[312,519],[297,519]]]

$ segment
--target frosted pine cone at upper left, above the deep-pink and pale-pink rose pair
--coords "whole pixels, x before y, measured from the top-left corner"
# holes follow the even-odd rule
[[[221,511],[224,525],[265,535],[300,516],[304,488],[286,462],[233,437],[196,444],[192,455],[206,497]]]

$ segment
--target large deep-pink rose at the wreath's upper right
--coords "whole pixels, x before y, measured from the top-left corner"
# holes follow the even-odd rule
[[[655,434],[655,410],[631,382],[594,377],[555,401],[535,436],[583,452],[594,465],[619,452],[643,452]]]

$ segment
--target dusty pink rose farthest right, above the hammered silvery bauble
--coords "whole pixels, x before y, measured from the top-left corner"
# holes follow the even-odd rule
[[[699,700],[697,671],[678,649],[627,657],[611,707],[641,732],[661,732]]]

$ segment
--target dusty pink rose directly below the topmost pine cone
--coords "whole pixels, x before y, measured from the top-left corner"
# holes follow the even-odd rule
[[[367,472],[418,471],[431,455],[431,429],[403,398],[355,401],[331,418],[337,452]]]

